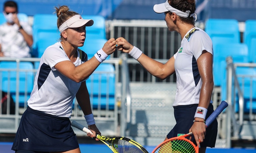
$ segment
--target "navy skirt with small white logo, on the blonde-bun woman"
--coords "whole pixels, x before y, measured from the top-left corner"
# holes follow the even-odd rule
[[[69,151],[79,148],[69,118],[27,108],[19,123],[12,150]]]

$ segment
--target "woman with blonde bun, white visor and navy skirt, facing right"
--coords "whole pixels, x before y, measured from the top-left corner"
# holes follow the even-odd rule
[[[116,41],[108,40],[88,60],[77,47],[84,45],[85,28],[94,21],[83,19],[67,6],[55,9],[61,41],[46,48],[41,57],[28,107],[12,146],[16,153],[81,153],[70,122],[75,97],[93,132],[88,136],[101,134],[95,125],[85,80],[115,51]]]

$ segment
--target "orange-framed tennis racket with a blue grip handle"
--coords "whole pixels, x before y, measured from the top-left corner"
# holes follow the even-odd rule
[[[216,110],[207,118],[205,121],[205,126],[208,127],[217,118],[217,116],[228,106],[228,103],[222,101],[221,104],[216,108]],[[152,153],[198,153],[199,147],[196,146],[192,141],[186,139],[192,135],[192,132],[179,136],[170,138],[159,144]]]

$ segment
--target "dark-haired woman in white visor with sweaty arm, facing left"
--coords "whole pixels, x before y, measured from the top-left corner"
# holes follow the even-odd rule
[[[195,0],[167,0],[154,6],[156,13],[165,13],[169,31],[182,37],[181,47],[165,64],[146,56],[123,37],[116,41],[118,50],[129,53],[155,77],[163,80],[176,73],[173,103],[176,125],[166,139],[193,132],[191,140],[204,153],[206,147],[215,146],[218,123],[215,120],[205,128],[205,119],[213,112],[213,48],[208,34],[195,27],[195,10]]]

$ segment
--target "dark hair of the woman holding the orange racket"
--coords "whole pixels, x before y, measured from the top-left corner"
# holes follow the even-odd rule
[[[195,0],[168,0],[168,2],[172,7],[182,12],[190,11],[190,14],[193,14],[196,11]],[[189,16],[187,18],[180,17],[180,19],[187,24],[195,25],[194,17],[193,16],[189,17]]]

